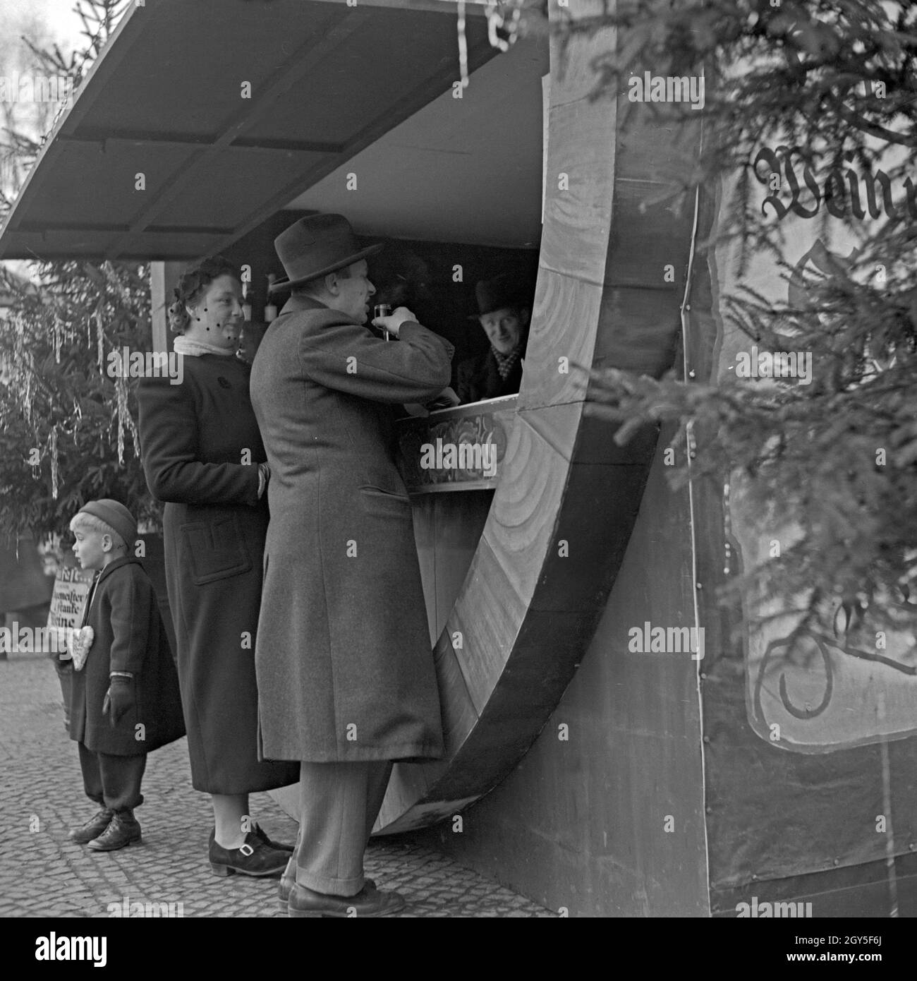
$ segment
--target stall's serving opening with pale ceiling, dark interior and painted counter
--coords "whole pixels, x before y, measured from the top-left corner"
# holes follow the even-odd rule
[[[548,64],[545,37],[520,39],[474,72],[460,97],[434,97],[227,250],[257,266],[257,342],[267,278],[282,273],[274,237],[303,214],[343,214],[364,243],[386,242],[370,260],[374,302],[409,307],[455,346],[451,388],[461,404],[406,415],[398,432],[432,643],[484,530],[525,374]]]

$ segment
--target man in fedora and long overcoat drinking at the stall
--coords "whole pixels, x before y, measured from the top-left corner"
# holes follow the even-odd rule
[[[411,503],[393,420],[449,384],[452,345],[406,307],[366,326],[368,256],[340,215],[275,240],[289,300],[251,373],[271,480],[255,648],[260,745],[300,761],[291,916],[404,905],[363,875],[393,760],[442,754],[439,697]]]

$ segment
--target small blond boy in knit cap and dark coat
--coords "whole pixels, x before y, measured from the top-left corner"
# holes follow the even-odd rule
[[[133,808],[143,802],[146,754],[184,735],[178,675],[153,584],[132,554],[137,524],[127,507],[89,501],[70,528],[80,566],[96,570],[77,636],[70,738],[86,797],[102,807],[70,838],[113,852],[140,841]]]

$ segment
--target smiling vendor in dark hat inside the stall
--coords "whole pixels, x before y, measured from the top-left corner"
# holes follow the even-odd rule
[[[455,391],[460,402],[519,391],[532,315],[531,290],[508,273],[481,280],[475,297],[478,314],[469,319],[481,324],[490,347],[458,366]]]

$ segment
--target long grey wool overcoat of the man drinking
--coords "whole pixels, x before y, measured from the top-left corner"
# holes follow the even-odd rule
[[[442,753],[393,422],[401,403],[449,384],[452,351],[414,322],[386,342],[303,296],[290,298],[258,349],[252,405],[271,465],[255,654],[266,756]]]

